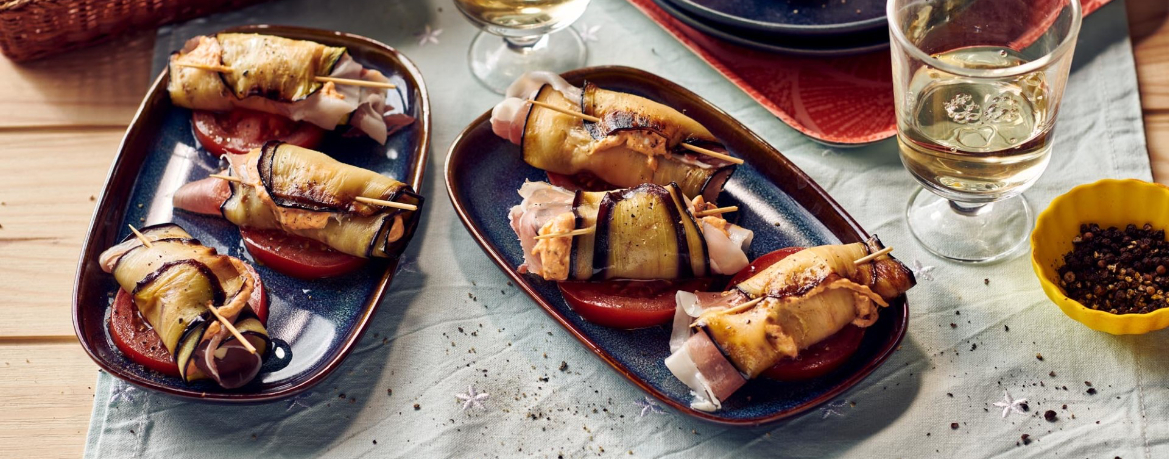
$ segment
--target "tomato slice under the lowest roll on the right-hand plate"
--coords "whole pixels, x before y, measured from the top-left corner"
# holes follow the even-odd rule
[[[767,266],[801,250],[803,248],[786,248],[755,258],[747,267],[736,272],[727,286],[733,287],[766,270]],[[864,328],[853,325],[845,326],[824,341],[804,349],[796,359],[784,359],[763,370],[762,376],[779,381],[803,381],[826,375],[844,364],[857,352],[857,348],[860,347],[860,339],[864,336]]]

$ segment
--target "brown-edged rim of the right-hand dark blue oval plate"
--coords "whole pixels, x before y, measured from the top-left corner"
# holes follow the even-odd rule
[[[669,79],[659,77],[659,76],[657,76],[655,74],[651,74],[649,71],[636,69],[636,68],[631,68],[631,67],[624,67],[624,65],[586,67],[586,68],[581,68],[581,69],[567,71],[565,74],[561,74],[561,76],[565,77],[566,79],[568,79],[569,82],[572,82],[576,77],[584,78],[588,75],[601,74],[601,72],[618,72],[618,74],[625,74],[625,75],[630,75],[630,76],[637,76],[637,77],[641,77],[643,79],[652,79],[657,84],[662,84],[665,89],[667,89],[670,91],[679,92],[679,93],[683,93],[683,95],[687,95],[689,97],[691,97],[693,99],[693,102],[696,102],[698,105],[703,106],[704,110],[708,110],[712,113],[714,113],[717,116],[720,116],[720,117],[724,117],[725,119],[729,120],[731,124],[735,128],[740,130],[746,137],[750,138],[753,140],[753,142],[758,142],[760,145],[765,145],[767,147],[767,149],[768,149],[768,153],[774,153],[775,158],[779,158],[779,160],[780,160],[781,164],[784,164],[791,172],[794,172],[797,176],[800,176],[801,179],[803,179],[804,182],[808,185],[808,188],[810,188],[811,192],[814,192],[817,195],[819,195],[819,197],[823,199],[825,201],[825,203],[829,204],[829,207],[831,208],[831,210],[833,213],[836,213],[837,215],[841,216],[841,218],[843,220],[843,222],[849,227],[849,230],[851,230],[855,234],[855,236],[857,236],[859,238],[864,238],[864,237],[869,236],[869,232],[865,231],[864,228],[862,228],[852,218],[852,216],[849,215],[849,213],[846,210],[844,210],[844,208],[841,207],[841,204],[837,203],[836,200],[833,200],[831,195],[828,194],[828,192],[825,192],[823,188],[821,188],[818,183],[816,183],[810,176],[808,176],[808,174],[804,173],[803,169],[801,169],[795,164],[793,164],[790,160],[788,160],[787,157],[784,157],[782,153],[779,152],[779,149],[776,149],[774,146],[772,146],[770,144],[768,144],[767,141],[765,141],[762,138],[759,137],[759,134],[756,134],[754,131],[749,130],[746,125],[743,125],[736,118],[732,117],[729,113],[722,111],[721,109],[719,109],[714,104],[712,104],[708,100],[706,100],[706,98],[704,98],[704,97],[694,93],[693,91],[690,91],[689,89],[683,88],[682,85],[679,85],[677,83],[673,83],[673,82],[671,82]],[[894,304],[899,304],[900,307],[901,307],[901,319],[899,321],[897,321],[897,322],[893,324],[894,336],[892,336],[892,340],[888,340],[887,345],[885,345],[885,347],[883,349],[879,349],[877,352],[877,354],[873,355],[873,359],[872,359],[871,363],[865,364],[857,373],[848,376],[846,378],[842,380],[838,384],[836,384],[833,388],[829,389],[828,391],[825,391],[824,394],[821,394],[817,397],[814,397],[812,399],[810,399],[808,402],[804,402],[804,403],[802,403],[802,404],[800,404],[797,406],[794,406],[794,408],[790,408],[790,409],[787,409],[787,410],[780,410],[777,412],[774,412],[774,413],[770,413],[770,415],[767,415],[767,416],[756,416],[756,417],[741,418],[741,419],[731,419],[731,418],[714,416],[713,413],[705,412],[705,411],[699,411],[699,410],[694,410],[694,409],[690,408],[689,405],[684,405],[682,403],[675,402],[672,398],[670,398],[669,396],[666,396],[662,391],[659,391],[659,390],[655,389],[653,387],[651,387],[644,380],[642,380],[639,377],[636,377],[632,374],[631,370],[629,370],[621,362],[617,362],[616,359],[614,359],[610,353],[608,353],[607,350],[602,349],[600,346],[597,346],[590,339],[588,339],[587,336],[584,336],[581,333],[581,331],[576,329],[576,327],[572,326],[572,324],[569,324],[565,319],[563,314],[561,314],[559,311],[556,311],[551,304],[548,304],[548,301],[545,301],[544,297],[540,295],[539,293],[537,293],[531,287],[531,283],[528,281],[528,279],[525,278],[524,276],[519,274],[519,272],[517,272],[516,269],[512,267],[506,259],[504,259],[503,252],[500,250],[498,250],[498,248],[496,248],[494,244],[492,244],[486,238],[486,236],[479,230],[479,228],[471,221],[470,214],[463,207],[462,202],[459,202],[458,200],[456,200],[455,196],[458,193],[458,186],[455,185],[456,180],[454,180],[455,179],[454,168],[451,167],[452,159],[455,158],[456,147],[459,146],[463,141],[465,141],[465,138],[468,138],[470,135],[470,133],[473,130],[476,130],[478,126],[483,125],[484,123],[490,123],[490,119],[491,119],[491,110],[487,110],[485,113],[480,114],[475,120],[472,120],[466,127],[464,127],[458,133],[458,135],[456,135],[455,139],[451,141],[451,145],[450,145],[450,147],[448,148],[448,152],[447,152],[447,160],[443,164],[443,169],[444,169],[443,176],[444,176],[444,179],[447,181],[447,196],[450,200],[451,206],[455,208],[455,213],[458,215],[459,221],[463,222],[463,227],[466,228],[468,232],[471,234],[471,237],[476,241],[476,243],[479,244],[479,249],[482,249],[487,255],[487,257],[491,258],[491,260],[497,266],[499,266],[499,269],[503,270],[504,273],[507,274],[509,278],[511,278],[511,280],[513,280],[516,283],[516,285],[518,285],[520,288],[523,288],[524,292],[527,293],[527,295],[532,300],[534,300],[537,302],[537,305],[539,305],[540,308],[544,310],[545,313],[547,313],[549,317],[552,317],[552,319],[554,319],[570,335],[573,335],[574,338],[576,338],[576,340],[580,341],[581,345],[584,346],[584,348],[592,350],[595,356],[600,357],[603,362],[608,363],[609,367],[611,367],[618,374],[621,374],[627,380],[629,380],[630,382],[632,382],[634,385],[637,385],[638,388],[641,388],[645,392],[652,395],[658,401],[665,403],[670,408],[673,408],[675,410],[677,410],[679,412],[690,415],[691,417],[694,417],[694,418],[698,418],[698,419],[701,419],[701,420],[711,422],[711,423],[714,423],[714,424],[729,425],[729,426],[759,426],[759,425],[763,425],[763,424],[772,424],[772,423],[775,423],[775,422],[779,422],[779,420],[788,419],[788,418],[802,415],[802,413],[804,413],[807,411],[810,411],[810,410],[812,410],[812,409],[815,409],[815,408],[817,408],[817,406],[819,406],[819,405],[822,405],[822,404],[831,401],[832,398],[836,398],[837,396],[839,396],[844,391],[846,391],[849,389],[852,389],[857,383],[859,383],[864,378],[869,377],[869,375],[871,375],[873,371],[876,371],[877,368],[880,368],[888,360],[888,357],[892,356],[894,352],[897,352],[897,349],[901,345],[901,341],[905,339],[905,335],[906,335],[906,333],[908,331],[909,304],[908,304],[908,299],[906,298],[906,295],[901,294],[897,300],[894,300],[895,301]],[[763,171],[760,171],[760,174],[766,174],[766,173]],[[767,175],[765,175],[765,178],[768,181],[772,180]],[[819,218],[817,218],[817,221],[819,221]]]

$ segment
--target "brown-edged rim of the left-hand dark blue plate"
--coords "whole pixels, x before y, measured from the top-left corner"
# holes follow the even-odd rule
[[[414,160],[414,166],[410,168],[413,179],[410,180],[409,185],[415,190],[422,189],[421,187],[423,183],[423,179],[426,176],[427,165],[430,162],[429,161],[430,132],[433,130],[430,95],[429,91],[427,90],[426,81],[422,77],[422,71],[419,69],[417,64],[415,64],[409,57],[399,51],[396,48],[390,47],[380,41],[369,39],[367,36],[350,34],[338,30],[311,28],[311,27],[277,26],[277,25],[261,23],[261,25],[229,27],[216,32],[216,34],[219,33],[267,33],[277,36],[300,37],[298,40],[320,40],[320,39],[327,40],[327,37],[333,36],[338,37],[338,40],[353,41],[362,43],[364,46],[374,49],[380,49],[381,51],[385,51],[389,56],[392,56],[395,61],[397,61],[400,65],[400,69],[397,70],[402,71],[402,74],[409,76],[410,79],[416,82],[416,89],[419,92],[419,100],[416,103],[416,105],[419,106],[419,116],[415,117],[415,119],[416,123],[419,121],[421,123],[420,131],[422,139],[414,152],[416,159]],[[348,339],[345,340],[345,342],[341,343],[341,347],[337,352],[334,357],[326,361],[320,367],[320,369],[311,374],[307,378],[299,381],[295,384],[279,388],[271,392],[240,392],[240,391],[206,392],[206,391],[193,390],[189,388],[181,388],[181,387],[177,388],[177,387],[160,384],[151,380],[141,378],[132,373],[127,373],[123,369],[123,366],[112,364],[112,362],[104,361],[102,357],[98,356],[96,349],[94,348],[94,345],[91,345],[90,341],[87,339],[87,333],[82,324],[83,322],[82,307],[89,307],[89,306],[83,306],[81,304],[81,295],[82,295],[81,290],[83,284],[82,280],[84,279],[87,272],[85,267],[92,263],[96,263],[96,260],[92,259],[94,257],[87,257],[87,253],[94,252],[95,245],[99,243],[98,241],[94,239],[94,236],[96,235],[97,231],[96,225],[98,224],[99,216],[105,215],[106,213],[110,211],[116,213],[116,210],[110,210],[111,206],[122,206],[122,204],[129,206],[127,202],[122,202],[125,200],[123,196],[111,195],[110,192],[111,188],[113,188],[113,179],[116,176],[120,176],[122,174],[133,173],[134,181],[137,181],[138,175],[141,173],[140,165],[130,164],[127,158],[134,155],[134,153],[127,153],[127,149],[131,147],[130,144],[134,138],[137,138],[138,135],[146,134],[145,132],[146,127],[141,125],[141,119],[145,112],[155,104],[170,103],[168,102],[170,96],[166,93],[165,90],[165,85],[168,81],[170,81],[170,69],[164,68],[162,71],[159,72],[158,77],[154,78],[154,82],[151,84],[150,89],[147,89],[146,96],[143,98],[143,102],[138,105],[138,110],[134,112],[133,118],[130,120],[130,125],[126,128],[126,132],[123,134],[122,140],[118,142],[118,154],[117,157],[115,157],[113,162],[111,162],[110,168],[106,172],[105,185],[103,185],[102,187],[102,193],[97,199],[97,206],[95,206],[94,214],[90,216],[89,229],[85,231],[85,237],[82,241],[81,256],[77,260],[77,270],[74,276],[74,290],[71,300],[74,334],[76,334],[77,340],[81,343],[81,347],[85,349],[85,354],[88,354],[90,360],[97,363],[97,366],[102,370],[104,370],[106,374],[111,376],[115,376],[124,382],[129,382],[143,389],[154,390],[161,394],[191,401],[222,402],[222,403],[262,403],[262,402],[277,401],[300,394],[307,390],[309,388],[312,388],[313,385],[324,381],[340,366],[341,362],[345,361],[346,357],[348,357],[354,346],[357,346],[358,341],[360,341],[361,336],[365,334],[366,328],[368,328],[368,325],[373,319],[373,314],[378,311],[381,300],[385,299],[386,292],[389,288],[389,285],[394,278],[394,271],[399,263],[397,258],[387,260],[385,272],[382,272],[381,278],[378,280],[378,285],[371,293],[369,299],[365,302],[365,308],[362,310],[362,313],[357,318],[354,322],[354,332],[350,334]],[[167,98],[167,100],[161,100],[161,98]],[[150,153],[148,151],[138,153],[136,159],[145,158],[148,153]],[[123,209],[122,213],[124,214],[125,209]],[[101,326],[105,327],[104,325]]]

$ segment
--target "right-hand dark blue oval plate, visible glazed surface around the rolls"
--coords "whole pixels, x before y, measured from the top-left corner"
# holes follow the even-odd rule
[[[604,89],[625,91],[665,103],[703,123],[729,151],[743,158],[720,206],[739,206],[738,223],[755,231],[752,258],[787,248],[857,242],[862,229],[808,175],[779,151],[729,114],[701,97],[652,74],[627,67],[574,70],[565,77],[589,81]],[[824,403],[858,383],[905,336],[908,306],[902,295],[883,310],[866,329],[860,349],[839,369],[805,382],[749,382],[718,412],[690,408],[690,390],[665,368],[670,329],[665,326],[623,331],[589,324],[565,302],[555,283],[520,274],[523,251],[507,223],[507,210],[520,202],[516,192],[524,180],[547,180],[520,158],[519,146],[491,132],[484,113],[457,139],[447,157],[447,192],[463,224],[517,285],[606,363],[665,404],[687,415],[724,424],[758,425],[783,419]],[[749,402],[748,402],[749,401]]]

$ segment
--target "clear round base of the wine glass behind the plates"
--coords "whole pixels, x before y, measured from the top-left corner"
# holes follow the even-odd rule
[[[561,74],[584,67],[588,48],[572,27],[530,39],[503,39],[479,32],[466,57],[479,83],[502,95],[524,72]]]

